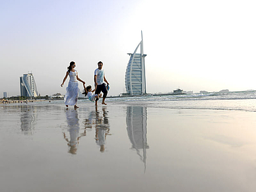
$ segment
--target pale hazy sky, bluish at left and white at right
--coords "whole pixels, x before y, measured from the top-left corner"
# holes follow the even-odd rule
[[[109,94],[125,92],[141,30],[147,92],[256,89],[255,10],[247,0],[1,0],[0,97],[19,95],[28,71],[41,95],[65,94],[70,61],[87,85],[103,61]]]

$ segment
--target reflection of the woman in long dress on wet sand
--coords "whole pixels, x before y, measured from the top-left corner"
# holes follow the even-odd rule
[[[71,154],[77,154],[79,139],[86,135],[86,129],[84,129],[84,133],[79,136],[79,114],[77,110],[66,110],[66,117],[70,138],[68,139],[65,133],[63,133],[63,136],[69,146],[69,152]]]

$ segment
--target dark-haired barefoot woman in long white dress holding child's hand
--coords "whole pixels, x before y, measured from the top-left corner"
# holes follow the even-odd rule
[[[67,76],[69,76],[69,85],[66,88],[67,93],[65,94],[64,102],[66,107],[74,106],[74,108],[79,108],[77,106],[77,100],[79,97],[79,82],[77,82],[77,80],[79,80],[83,84],[85,84],[85,82],[79,79],[79,75],[75,70],[75,67],[76,67],[76,63],[74,61],[71,61],[69,67],[67,67],[68,70],[63,79],[61,87],[63,86],[65,80],[67,79]]]

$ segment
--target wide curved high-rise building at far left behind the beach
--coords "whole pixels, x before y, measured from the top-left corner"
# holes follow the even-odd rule
[[[20,96],[36,97],[38,90],[36,88],[36,81],[32,73],[23,74],[20,77]]]

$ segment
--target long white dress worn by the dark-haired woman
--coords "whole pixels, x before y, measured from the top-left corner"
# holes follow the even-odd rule
[[[75,106],[79,98],[79,82],[77,82],[77,71],[69,72],[69,85],[66,88],[67,93],[64,97],[65,105]]]

